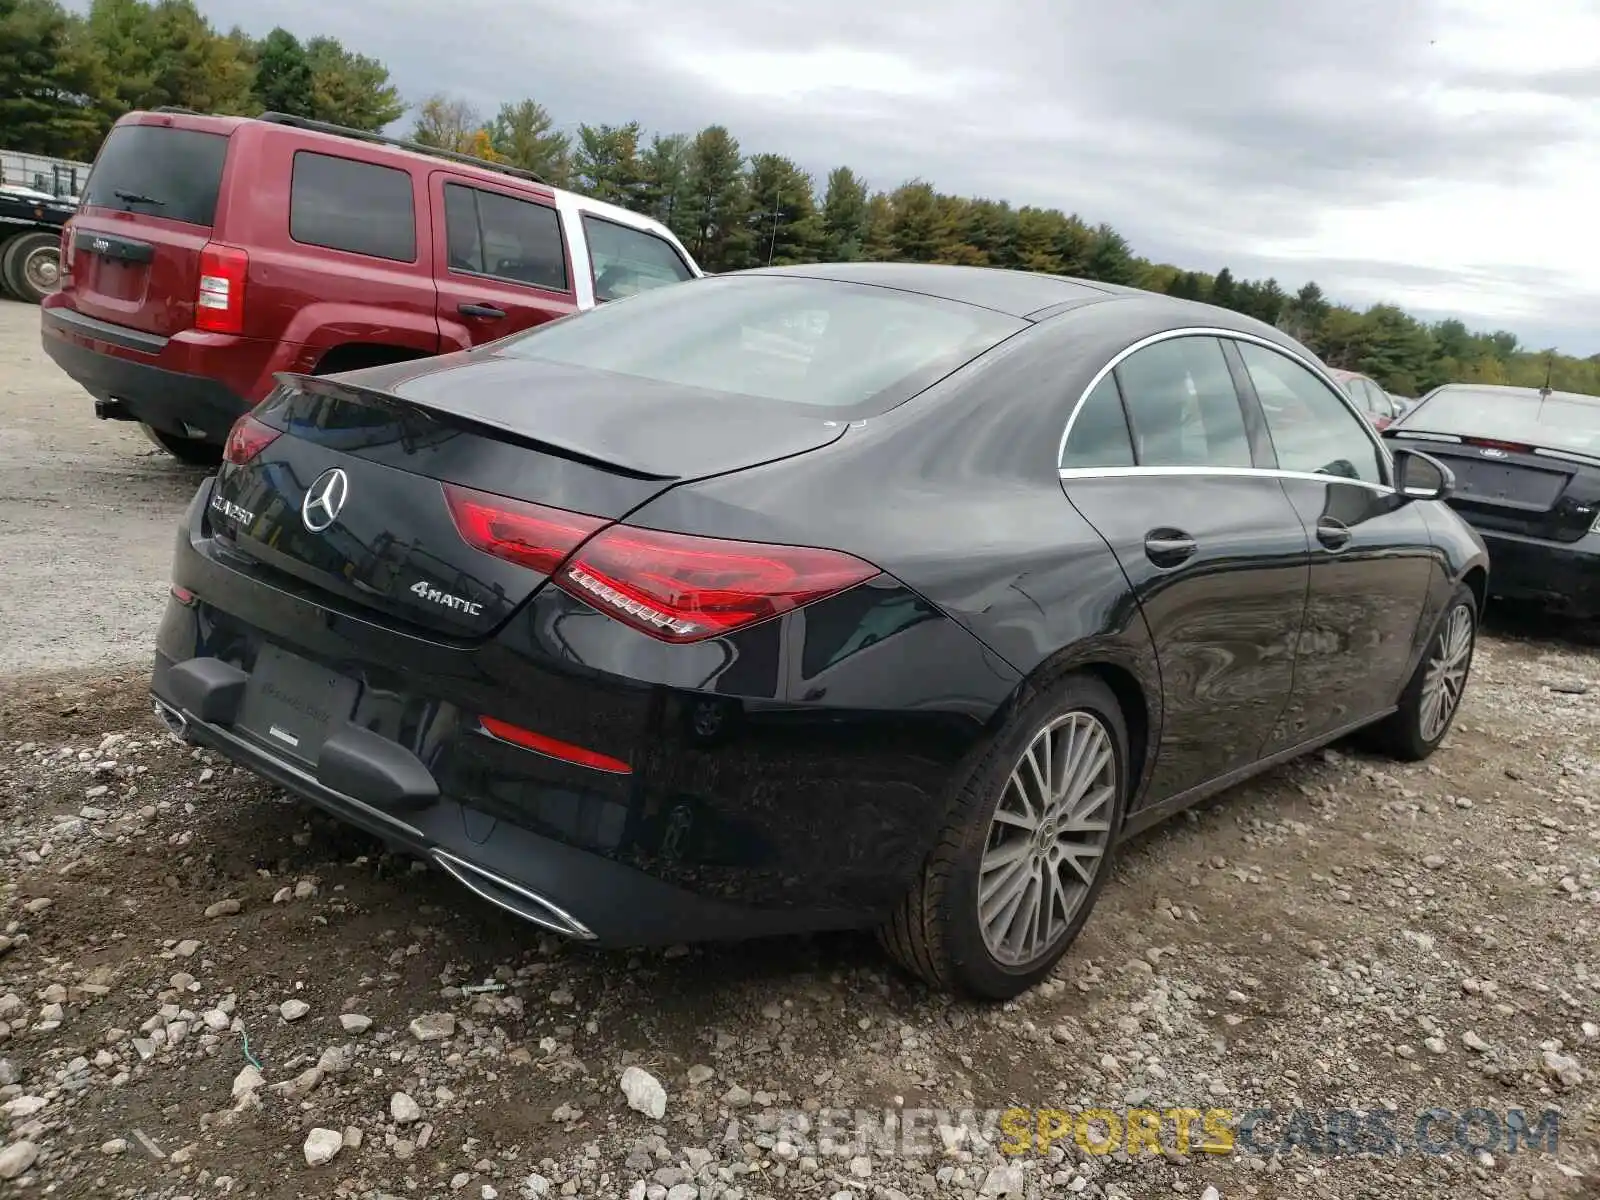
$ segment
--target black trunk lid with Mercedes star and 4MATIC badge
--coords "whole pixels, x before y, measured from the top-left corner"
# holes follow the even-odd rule
[[[453,488],[549,506],[555,523],[562,512],[602,518],[576,523],[592,530],[675,483],[816,450],[845,432],[821,418],[739,418],[728,397],[712,403],[690,389],[584,376],[477,355],[341,379],[280,376],[254,413],[280,435],[218,475],[218,541],[232,565],[264,582],[470,640],[498,629],[558,562],[541,571],[469,546],[451,514]],[[310,496],[315,509],[334,469],[344,474],[342,506],[326,528],[310,528],[302,507]],[[323,517],[314,510],[312,525]]]

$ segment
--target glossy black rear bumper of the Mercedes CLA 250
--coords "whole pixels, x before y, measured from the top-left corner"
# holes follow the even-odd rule
[[[603,946],[882,920],[941,830],[954,770],[1018,683],[944,619],[842,658],[834,643],[859,627],[846,597],[728,646],[666,646],[554,587],[485,642],[405,632],[240,565],[210,526],[211,486],[178,536],[173,579],[194,600],[168,603],[152,675],[186,736],[501,907]],[[880,597],[893,606],[898,592]],[[245,686],[266,646],[355,680],[334,728],[357,728],[387,778],[414,786],[326,770],[333,741],[314,762],[283,752],[184,683],[184,664],[206,659],[219,666],[202,672]],[[805,666],[818,661],[821,674]],[[512,746],[480,715],[627,770]]]

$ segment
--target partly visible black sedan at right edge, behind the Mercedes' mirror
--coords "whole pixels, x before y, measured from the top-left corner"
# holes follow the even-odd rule
[[[1600,397],[1446,384],[1387,437],[1450,466],[1450,506],[1494,558],[1491,595],[1600,618]]]

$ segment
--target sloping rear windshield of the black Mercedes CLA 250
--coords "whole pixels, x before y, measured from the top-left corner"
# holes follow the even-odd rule
[[[496,349],[869,416],[1024,328],[1018,317],[891,288],[720,275],[642,291]]]

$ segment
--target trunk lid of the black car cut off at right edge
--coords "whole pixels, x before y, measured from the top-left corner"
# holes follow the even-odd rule
[[[1482,530],[1576,542],[1600,507],[1600,458],[1486,438],[1390,442],[1432,454],[1456,477],[1450,506]]]

